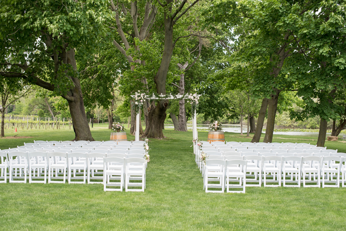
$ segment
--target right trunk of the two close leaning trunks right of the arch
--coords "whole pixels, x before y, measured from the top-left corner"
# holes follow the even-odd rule
[[[272,94],[271,98],[268,102],[268,119],[267,119],[267,127],[265,130],[265,136],[263,142],[271,143],[273,140],[273,132],[274,132],[274,126],[275,126],[275,116],[277,111],[277,101],[279,98],[280,91],[278,89],[274,90],[276,94]]]

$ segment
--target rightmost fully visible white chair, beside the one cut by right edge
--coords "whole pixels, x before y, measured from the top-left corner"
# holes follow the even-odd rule
[[[338,161],[338,164],[335,162]],[[322,188],[340,187],[340,169],[342,158],[339,156],[323,156],[321,160]],[[334,179],[336,178],[336,179]],[[333,185],[326,185],[332,183]]]

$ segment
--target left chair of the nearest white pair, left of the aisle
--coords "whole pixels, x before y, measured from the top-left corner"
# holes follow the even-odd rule
[[[125,158],[119,157],[106,157],[103,159],[104,191],[123,191],[125,177],[124,160]]]

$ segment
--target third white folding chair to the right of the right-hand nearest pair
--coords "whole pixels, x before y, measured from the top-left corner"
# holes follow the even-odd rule
[[[284,187],[300,187],[301,186],[302,157],[283,156],[281,168],[282,168],[282,178],[283,178]],[[286,183],[291,183],[292,185],[286,185]]]

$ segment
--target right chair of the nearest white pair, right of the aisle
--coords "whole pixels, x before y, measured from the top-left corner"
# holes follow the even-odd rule
[[[227,160],[226,161],[226,192],[245,193],[246,186],[246,160]],[[234,165],[239,167],[239,171],[234,170]],[[239,181],[239,183],[238,183]],[[230,184],[231,182],[237,184]],[[242,191],[229,190],[229,188],[243,188]]]

